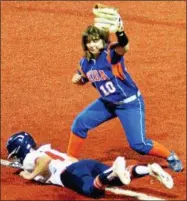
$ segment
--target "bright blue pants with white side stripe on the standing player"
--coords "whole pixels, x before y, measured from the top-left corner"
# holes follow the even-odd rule
[[[145,135],[145,108],[142,96],[122,105],[107,103],[98,98],[75,118],[72,132],[86,138],[90,129],[115,117],[119,118],[130,147],[140,154],[147,154],[153,143]]]

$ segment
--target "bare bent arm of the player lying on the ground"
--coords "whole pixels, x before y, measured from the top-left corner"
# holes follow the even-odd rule
[[[22,176],[24,179],[32,180],[38,175],[46,174],[51,160],[52,158],[48,155],[37,158],[34,171],[30,173],[24,170],[20,172],[20,176]]]

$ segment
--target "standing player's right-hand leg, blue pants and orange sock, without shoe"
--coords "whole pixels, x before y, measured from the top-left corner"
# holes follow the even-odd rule
[[[153,142],[146,137],[145,132],[145,108],[140,96],[135,101],[118,106],[116,114],[125,130],[127,140],[131,148],[140,154],[149,154],[167,158],[170,151],[163,145]]]

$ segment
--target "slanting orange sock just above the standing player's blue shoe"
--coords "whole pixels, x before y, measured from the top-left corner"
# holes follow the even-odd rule
[[[153,141],[153,148],[148,153],[148,155],[158,156],[165,159],[168,158],[170,154],[170,151],[166,147],[156,141]]]

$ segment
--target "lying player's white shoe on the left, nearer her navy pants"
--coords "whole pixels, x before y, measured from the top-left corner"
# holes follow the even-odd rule
[[[113,173],[120,179],[120,181],[125,185],[129,185],[131,182],[130,172],[126,170],[126,161],[124,157],[117,157],[112,167]]]

